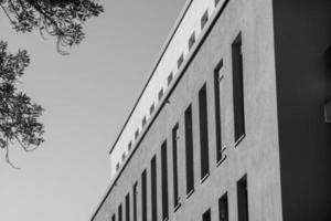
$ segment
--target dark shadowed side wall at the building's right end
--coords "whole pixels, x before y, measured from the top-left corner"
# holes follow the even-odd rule
[[[286,221],[331,220],[330,0],[274,0],[282,209]]]

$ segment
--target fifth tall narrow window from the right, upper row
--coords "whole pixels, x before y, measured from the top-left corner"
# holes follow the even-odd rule
[[[173,206],[179,206],[177,147],[179,141],[179,125],[172,129],[172,164],[173,164]]]

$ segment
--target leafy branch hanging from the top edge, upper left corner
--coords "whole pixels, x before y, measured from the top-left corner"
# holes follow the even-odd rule
[[[99,15],[103,7],[95,0],[0,0],[0,7],[18,32],[38,30],[57,38],[57,50],[81,43],[83,24]]]

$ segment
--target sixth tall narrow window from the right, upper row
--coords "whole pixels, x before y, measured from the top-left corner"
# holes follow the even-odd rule
[[[169,199],[168,199],[168,156],[167,156],[167,140],[161,146],[161,178],[162,178],[162,219],[169,217]]]

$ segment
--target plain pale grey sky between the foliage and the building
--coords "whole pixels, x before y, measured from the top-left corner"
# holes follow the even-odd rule
[[[134,107],[185,0],[100,0],[70,55],[54,39],[15,33],[2,11],[0,40],[31,64],[19,85],[45,112],[45,143],[0,151],[1,221],[89,220],[110,185],[108,151]]]

